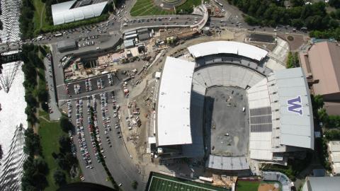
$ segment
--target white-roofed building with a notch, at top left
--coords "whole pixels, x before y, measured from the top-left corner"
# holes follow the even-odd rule
[[[53,4],[51,6],[54,25],[61,25],[73,21],[81,21],[86,18],[101,16],[101,12],[103,12],[103,9],[108,3],[107,1],[105,1],[98,4],[72,8],[75,2],[75,0],[66,1],[64,3]]]

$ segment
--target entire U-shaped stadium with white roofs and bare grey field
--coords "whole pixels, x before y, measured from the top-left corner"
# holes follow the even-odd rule
[[[156,107],[160,163],[201,158],[211,170],[287,165],[314,149],[310,92],[301,68],[271,70],[268,52],[243,42],[203,42],[166,57]]]

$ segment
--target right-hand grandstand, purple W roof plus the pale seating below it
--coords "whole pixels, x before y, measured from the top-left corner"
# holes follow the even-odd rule
[[[251,158],[273,160],[286,146],[314,149],[312,105],[301,68],[274,71],[247,96]]]

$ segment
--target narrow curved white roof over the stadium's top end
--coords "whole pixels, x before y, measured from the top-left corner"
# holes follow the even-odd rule
[[[248,57],[260,61],[267,55],[267,51],[253,45],[243,42],[233,41],[212,41],[203,42],[198,45],[188,47],[193,57],[205,57],[210,54],[238,54],[242,57]]]

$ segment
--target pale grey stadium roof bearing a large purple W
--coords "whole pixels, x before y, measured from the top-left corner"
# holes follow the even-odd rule
[[[280,112],[280,144],[314,149],[312,103],[307,79],[301,68],[283,69],[268,76],[268,86],[276,84],[276,92],[269,92],[272,110]],[[273,112],[275,120],[275,112]]]

